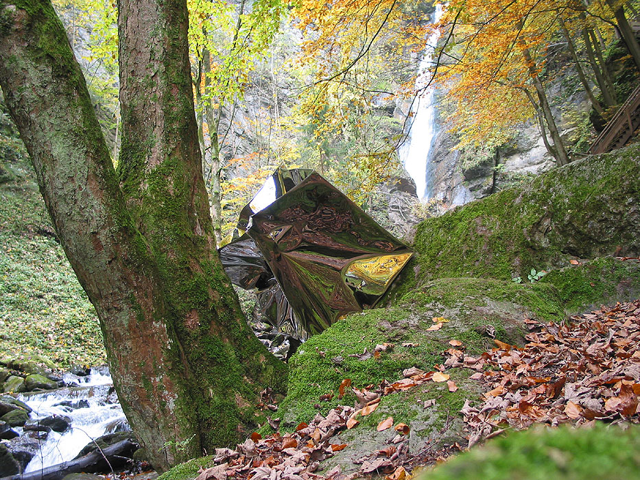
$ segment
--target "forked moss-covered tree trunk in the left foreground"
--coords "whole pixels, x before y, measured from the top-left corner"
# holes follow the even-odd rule
[[[49,1],[0,0],[0,86],[97,311],[123,409],[165,470],[237,440],[285,372],[252,335],[215,252],[186,2],[121,1],[119,28],[117,173]]]

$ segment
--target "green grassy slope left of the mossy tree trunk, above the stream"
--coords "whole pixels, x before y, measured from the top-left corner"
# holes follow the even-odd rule
[[[0,184],[0,360],[104,363],[93,306],[54,239],[31,165],[19,158],[3,167],[11,179]]]

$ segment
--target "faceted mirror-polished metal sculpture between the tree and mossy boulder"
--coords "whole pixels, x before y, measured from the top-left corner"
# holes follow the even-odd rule
[[[268,182],[220,249],[231,281],[258,289],[261,320],[304,340],[372,307],[412,256],[407,245],[315,171],[278,169]]]

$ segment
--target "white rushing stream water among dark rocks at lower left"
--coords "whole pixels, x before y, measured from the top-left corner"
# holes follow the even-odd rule
[[[51,415],[67,416],[71,418],[71,428],[64,433],[51,431],[46,440],[40,445],[40,452],[33,457],[26,472],[34,472],[63,461],[75,458],[91,440],[112,433],[115,426],[124,424],[126,418],[119,403],[107,403],[106,392],[112,384],[109,374],[95,373],[86,377],[75,377],[81,387],[62,388],[42,394],[22,395],[19,400],[29,405],[33,412],[31,420],[45,418]],[[64,381],[71,378],[65,376]],[[79,408],[60,405],[68,400]]]

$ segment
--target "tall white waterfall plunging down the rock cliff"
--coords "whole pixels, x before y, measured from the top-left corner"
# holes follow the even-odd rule
[[[440,20],[442,5],[436,5],[433,23]],[[436,135],[436,106],[434,104],[434,88],[425,88],[431,80],[431,67],[436,50],[436,42],[440,36],[434,32],[427,40],[427,47],[420,64],[418,65],[418,77],[416,78],[416,91],[420,91],[414,99],[411,108],[412,118],[407,139],[399,149],[399,155],[405,169],[416,182],[416,193],[420,200],[428,200],[431,197],[429,182],[429,154],[431,144]]]

